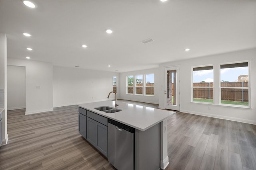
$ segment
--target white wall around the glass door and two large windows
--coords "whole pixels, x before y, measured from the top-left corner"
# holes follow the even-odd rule
[[[207,57],[199,57],[190,60],[175,61],[171,63],[160,64],[160,86],[164,87],[164,67],[180,66],[180,111],[185,113],[193,113],[205,115],[209,117],[217,117],[234,121],[256,124],[256,49],[245,51],[237,51],[233,53],[224,53]],[[170,56],[171,57],[171,56]],[[250,85],[251,85],[251,109],[241,107],[228,107],[218,105],[218,82],[214,82],[215,104],[197,104],[191,102],[191,68],[192,66],[200,66],[206,64],[214,64],[214,80],[218,80],[219,64],[228,62],[239,62],[250,60]],[[216,88],[217,87],[217,88]],[[210,107],[210,110],[209,110]],[[164,88],[160,88],[159,108],[164,108]]]

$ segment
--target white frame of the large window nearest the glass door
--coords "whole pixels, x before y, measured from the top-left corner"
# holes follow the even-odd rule
[[[212,82],[212,86],[202,86],[202,87],[198,87],[198,86],[194,86],[194,68],[204,68],[204,67],[212,67],[212,69],[207,69],[207,70],[212,70],[213,72],[213,82]],[[200,65],[200,66],[192,66],[191,67],[191,102],[193,103],[201,103],[201,104],[214,104],[214,64],[207,64],[207,65]],[[194,101],[194,88],[208,88],[209,93],[210,93],[210,89],[212,89],[212,102],[200,102],[200,101]],[[208,94],[209,97],[210,94]]]

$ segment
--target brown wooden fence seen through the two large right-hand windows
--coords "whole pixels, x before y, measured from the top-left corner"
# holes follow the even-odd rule
[[[223,87],[248,87],[248,82],[221,82],[221,100],[248,102],[248,89]],[[193,98],[213,99],[213,83],[193,83]],[[205,88],[195,88],[205,87]]]

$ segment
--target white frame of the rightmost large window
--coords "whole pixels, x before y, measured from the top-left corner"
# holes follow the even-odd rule
[[[228,107],[242,107],[242,108],[251,108],[251,81],[249,79],[248,81],[248,87],[221,87],[221,65],[228,65],[228,64],[239,64],[239,63],[248,63],[248,77],[250,78],[250,60],[247,61],[234,61],[234,62],[228,62],[228,63],[220,63],[219,64],[219,105],[220,106],[228,106]],[[234,68],[234,67],[232,67]],[[222,104],[221,103],[221,89],[248,89],[248,106],[243,106],[243,105],[236,105],[236,104]]]

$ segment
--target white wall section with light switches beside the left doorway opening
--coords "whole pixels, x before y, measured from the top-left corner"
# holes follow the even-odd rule
[[[51,63],[8,58],[10,66],[26,67],[26,113],[52,111]]]

